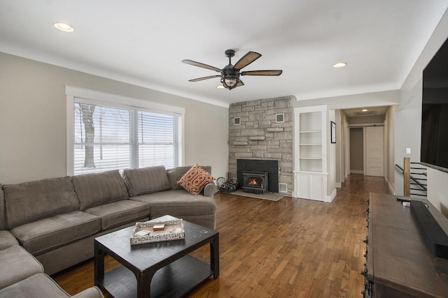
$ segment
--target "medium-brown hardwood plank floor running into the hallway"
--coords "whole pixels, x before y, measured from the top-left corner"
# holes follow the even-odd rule
[[[217,193],[221,275],[188,297],[362,297],[370,192],[390,193],[384,178],[358,174],[331,203]],[[193,255],[208,261],[209,249]],[[118,266],[106,262],[109,270]],[[93,285],[93,262],[52,277],[74,295]]]

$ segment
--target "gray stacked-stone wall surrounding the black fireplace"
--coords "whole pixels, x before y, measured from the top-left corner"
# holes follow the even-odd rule
[[[237,159],[279,161],[279,183],[293,191],[293,96],[232,103],[229,107],[229,177],[237,177]],[[284,122],[276,123],[276,114]],[[233,119],[240,117],[240,124]]]

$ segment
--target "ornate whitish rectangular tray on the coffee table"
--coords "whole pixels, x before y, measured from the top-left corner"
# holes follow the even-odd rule
[[[131,235],[131,245],[185,239],[182,219],[146,221],[136,223]]]

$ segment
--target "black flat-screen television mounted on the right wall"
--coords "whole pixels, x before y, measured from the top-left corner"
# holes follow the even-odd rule
[[[420,161],[448,172],[448,40],[423,70]]]

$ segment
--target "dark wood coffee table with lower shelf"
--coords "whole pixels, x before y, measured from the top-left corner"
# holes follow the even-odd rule
[[[207,278],[218,278],[218,231],[188,221],[183,226],[185,239],[174,241],[131,246],[134,226],[95,238],[95,285],[116,298],[181,297]],[[210,264],[188,255],[206,244],[210,244]],[[123,266],[104,274],[105,254]]]

